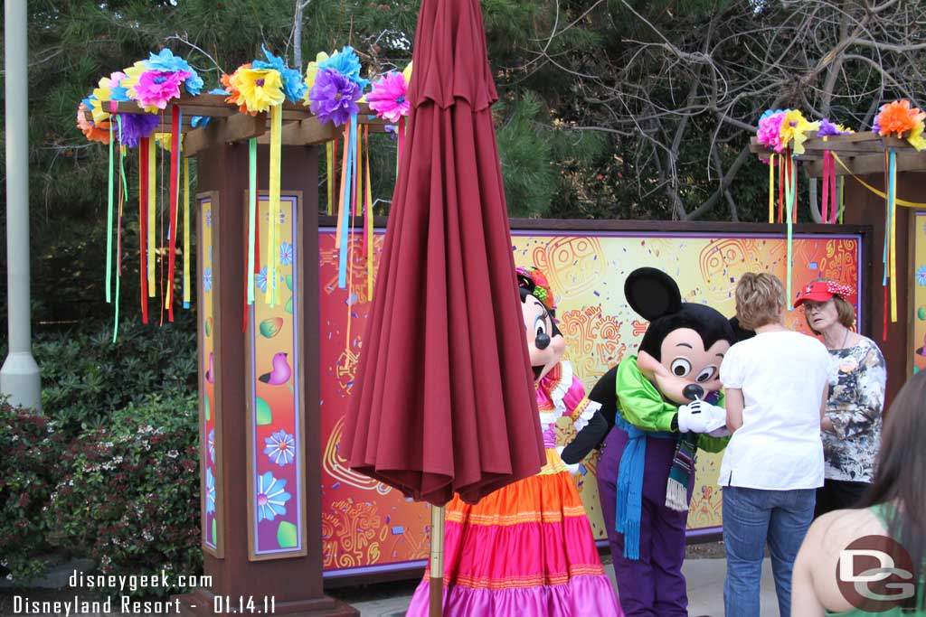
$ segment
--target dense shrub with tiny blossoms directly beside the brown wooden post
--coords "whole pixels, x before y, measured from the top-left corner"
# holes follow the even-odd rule
[[[84,430],[56,466],[48,541],[101,574],[199,573],[197,419],[195,394],[152,395]]]

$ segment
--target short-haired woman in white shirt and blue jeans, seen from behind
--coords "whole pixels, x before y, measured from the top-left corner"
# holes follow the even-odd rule
[[[766,540],[779,611],[791,614],[791,573],[823,486],[830,355],[784,327],[785,309],[778,278],[748,273],[737,282],[736,316],[756,336],[733,345],[720,365],[732,431],[720,465],[727,617],[759,614]]]

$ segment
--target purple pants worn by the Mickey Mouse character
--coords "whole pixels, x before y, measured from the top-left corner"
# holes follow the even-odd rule
[[[616,483],[627,433],[618,427],[607,434],[598,461],[598,495],[614,558],[620,606],[627,617],[687,617],[688,594],[682,575],[688,512],[666,507],[666,485],[675,454],[674,439],[646,438],[640,559],[624,559],[624,537],[614,530]],[[688,483],[688,499],[694,472]]]

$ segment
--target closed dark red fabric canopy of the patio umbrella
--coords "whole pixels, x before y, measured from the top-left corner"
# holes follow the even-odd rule
[[[545,463],[479,1],[423,0],[413,60],[341,450],[415,500],[475,503]]]

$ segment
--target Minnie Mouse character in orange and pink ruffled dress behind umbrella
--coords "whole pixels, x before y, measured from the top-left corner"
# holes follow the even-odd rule
[[[538,475],[499,488],[476,505],[458,496],[447,504],[444,615],[619,617],[623,612],[592,526],[556,447],[557,419],[570,415],[580,430],[594,409],[574,413],[585,390],[562,359],[566,340],[546,278],[534,267],[519,267],[517,275],[546,464]],[[429,585],[426,571],[407,615],[428,614]]]

